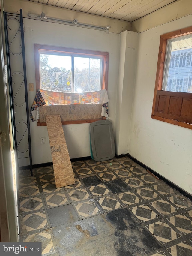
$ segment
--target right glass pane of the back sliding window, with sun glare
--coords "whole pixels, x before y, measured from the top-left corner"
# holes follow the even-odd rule
[[[102,59],[74,57],[75,92],[91,92],[101,90]]]

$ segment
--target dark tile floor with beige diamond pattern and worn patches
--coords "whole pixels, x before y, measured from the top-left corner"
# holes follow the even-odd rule
[[[192,255],[192,202],[130,158],[73,162],[56,188],[52,166],[20,171],[20,242],[52,256]]]

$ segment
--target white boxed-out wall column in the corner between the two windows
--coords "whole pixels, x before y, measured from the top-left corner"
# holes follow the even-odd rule
[[[116,153],[127,154],[130,136],[131,112],[137,56],[137,32],[121,33],[119,80],[116,104]]]

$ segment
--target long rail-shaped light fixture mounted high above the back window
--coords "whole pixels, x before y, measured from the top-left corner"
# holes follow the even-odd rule
[[[56,21],[58,23],[64,23],[66,25],[78,26],[78,27],[82,27],[82,28],[103,30],[103,31],[106,31],[106,34],[109,34],[109,29],[110,29],[110,26],[101,27],[101,26],[94,26],[94,25],[89,25],[89,24],[85,24],[85,23],[79,23],[79,21],[77,19],[70,21],[70,20],[60,20],[60,19],[49,18],[46,16],[46,14],[44,12],[42,12],[41,15],[28,13],[28,16],[32,17],[32,18],[44,19],[46,21]]]

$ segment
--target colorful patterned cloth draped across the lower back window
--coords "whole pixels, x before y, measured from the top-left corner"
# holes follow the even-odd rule
[[[108,116],[107,90],[84,93],[52,92],[38,89],[31,108],[31,119],[33,122],[39,119],[39,106],[43,105],[73,105],[73,104],[103,104],[101,116]]]

